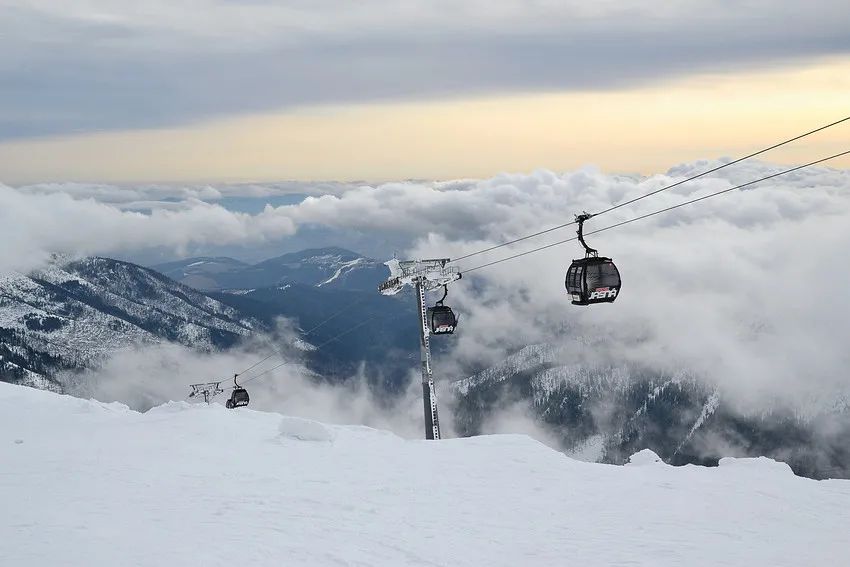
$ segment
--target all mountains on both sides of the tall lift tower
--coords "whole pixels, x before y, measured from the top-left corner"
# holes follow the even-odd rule
[[[324,380],[360,371],[376,392],[393,396],[418,365],[414,299],[379,295],[387,272],[375,260],[329,248],[255,265],[191,258],[159,269],[165,273],[108,258],[56,258],[0,278],[0,380],[62,391],[62,376],[121,349],[174,342],[223,350],[275,329],[280,318],[315,347],[299,357]],[[450,354],[451,344],[435,341],[435,354]],[[554,444],[586,460],[622,463],[643,448],[672,464],[769,455],[806,476],[850,477],[848,399],[805,416],[741,415],[726,393],[685,369],[663,375],[571,360],[563,348],[528,345],[457,380],[440,398],[453,406],[456,430],[486,432],[505,409],[521,407]]]

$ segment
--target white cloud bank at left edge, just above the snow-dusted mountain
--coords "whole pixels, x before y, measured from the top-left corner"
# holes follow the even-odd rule
[[[248,215],[197,199],[177,210],[123,211],[64,192],[27,193],[0,185],[0,274],[42,265],[50,254],[113,254],[146,247],[263,242],[292,234],[272,210]]]

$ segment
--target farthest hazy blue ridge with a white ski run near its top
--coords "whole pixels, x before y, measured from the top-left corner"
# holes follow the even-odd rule
[[[155,270],[201,290],[254,289],[304,284],[374,292],[386,279],[381,262],[344,248],[311,248],[246,265],[232,258],[188,258]]]

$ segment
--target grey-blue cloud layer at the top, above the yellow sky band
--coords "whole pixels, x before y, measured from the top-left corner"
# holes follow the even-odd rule
[[[11,0],[0,6],[0,139],[328,103],[610,89],[846,54],[845,8]]]

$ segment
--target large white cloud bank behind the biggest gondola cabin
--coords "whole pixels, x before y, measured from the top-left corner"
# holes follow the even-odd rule
[[[392,231],[416,238],[410,257],[458,257],[602,210],[707,169],[686,164],[646,179],[593,169],[439,184],[386,184],[280,210],[296,223]],[[781,168],[750,162],[588,222],[594,230]],[[460,262],[490,260],[573,236],[575,227]],[[418,237],[417,237],[418,235]],[[450,288],[462,315],[441,370],[493,362],[538,342],[601,341],[614,359],[687,368],[742,409],[823,408],[850,391],[850,172],[811,168],[756,188],[589,237],[623,274],[613,306],[569,305],[564,273],[577,243],[473,271]],[[458,374],[455,374],[458,373]]]

